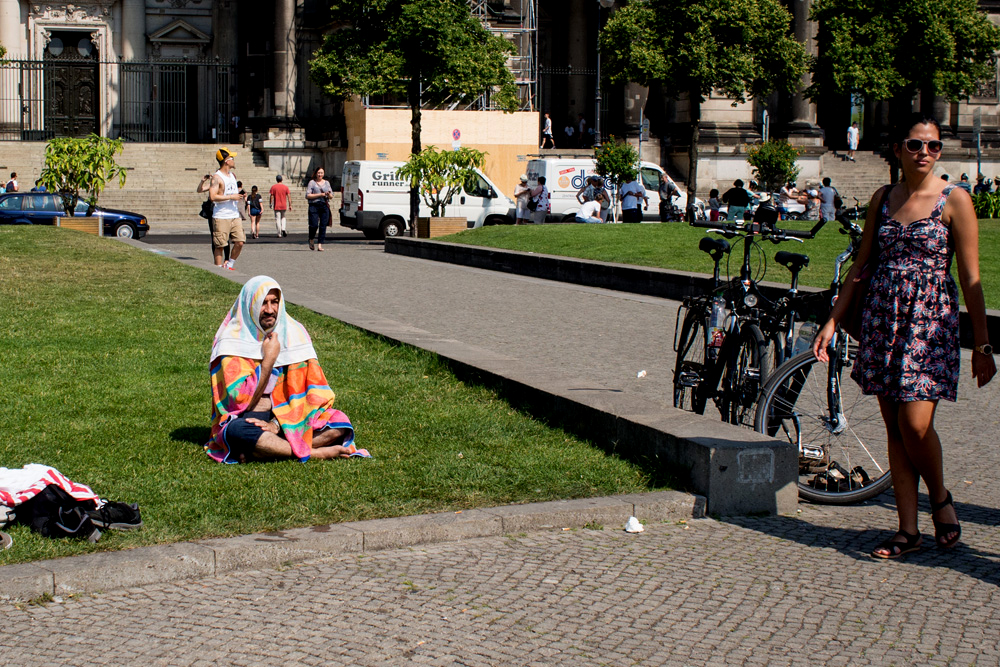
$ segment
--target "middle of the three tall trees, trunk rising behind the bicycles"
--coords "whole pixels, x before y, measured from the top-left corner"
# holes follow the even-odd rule
[[[713,90],[734,104],[794,91],[806,53],[789,34],[791,21],[780,0],[634,0],[601,31],[609,81],[662,81],[675,98],[687,96],[689,217],[698,189],[701,103]]]

